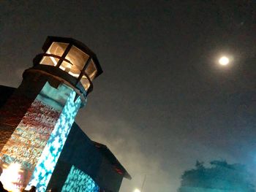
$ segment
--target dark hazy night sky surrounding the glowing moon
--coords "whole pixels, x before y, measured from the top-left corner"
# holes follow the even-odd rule
[[[120,192],[145,175],[145,192],[176,191],[196,160],[256,172],[256,1],[1,1],[0,22],[1,85],[18,87],[49,35],[97,54],[76,121],[132,175]]]

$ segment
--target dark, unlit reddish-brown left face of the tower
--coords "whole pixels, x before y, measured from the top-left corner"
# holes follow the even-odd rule
[[[27,75],[12,96],[1,96],[4,105],[0,108],[0,150],[10,139],[45,82],[47,77],[40,77],[39,74]],[[5,89],[4,92],[6,91],[7,94],[10,93]]]

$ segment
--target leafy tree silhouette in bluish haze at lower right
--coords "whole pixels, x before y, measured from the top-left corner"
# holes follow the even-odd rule
[[[242,164],[211,161],[206,168],[197,161],[195,169],[184,172],[178,192],[255,192],[252,175]]]

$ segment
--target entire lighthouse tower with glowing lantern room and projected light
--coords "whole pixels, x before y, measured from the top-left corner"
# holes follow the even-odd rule
[[[42,50],[0,110],[0,166],[18,168],[18,184],[38,191],[46,190],[75,116],[102,73],[97,56],[75,39],[48,37]]]

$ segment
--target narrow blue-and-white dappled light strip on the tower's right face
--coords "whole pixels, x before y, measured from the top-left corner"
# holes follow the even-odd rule
[[[27,188],[31,185],[37,187],[37,191],[45,191],[53,174],[61,150],[66,142],[67,135],[74,123],[75,116],[80,108],[80,98],[75,100],[75,91],[70,93],[67,103],[61,112],[53,132],[50,134],[48,143],[42,151],[37,166],[34,169],[31,180]]]

